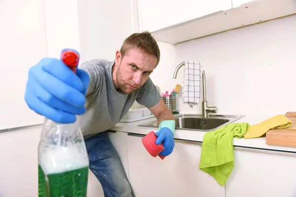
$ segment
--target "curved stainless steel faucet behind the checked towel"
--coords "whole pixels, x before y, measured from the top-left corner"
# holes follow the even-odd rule
[[[177,73],[182,66],[185,66],[185,62],[182,62],[181,64],[179,64],[175,69],[174,76],[173,76],[174,79],[177,78]],[[203,85],[202,86],[202,91],[203,91],[202,117],[209,118],[209,113],[217,113],[218,109],[217,107],[208,107],[208,101],[206,99],[206,75],[204,70],[202,71],[202,85]]]

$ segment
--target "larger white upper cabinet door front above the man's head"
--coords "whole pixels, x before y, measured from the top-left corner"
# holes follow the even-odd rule
[[[138,4],[143,31],[155,31],[232,8],[231,0],[138,0]]]

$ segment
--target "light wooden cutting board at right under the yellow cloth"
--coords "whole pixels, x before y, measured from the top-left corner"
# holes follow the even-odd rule
[[[266,144],[277,146],[296,147],[296,112],[285,114],[293,125],[283,129],[271,129],[266,132]]]

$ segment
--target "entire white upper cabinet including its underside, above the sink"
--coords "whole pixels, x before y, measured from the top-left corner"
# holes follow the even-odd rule
[[[138,0],[140,30],[177,44],[296,14],[296,0]]]

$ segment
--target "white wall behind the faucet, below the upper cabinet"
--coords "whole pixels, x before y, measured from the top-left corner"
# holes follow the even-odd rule
[[[161,60],[151,79],[162,92],[183,85],[184,67],[177,79],[174,70],[193,59],[206,65],[207,100],[218,114],[243,114],[253,124],[296,111],[295,24],[290,16],[175,46],[159,42]],[[180,110],[201,113],[201,103],[191,109],[178,96]]]

